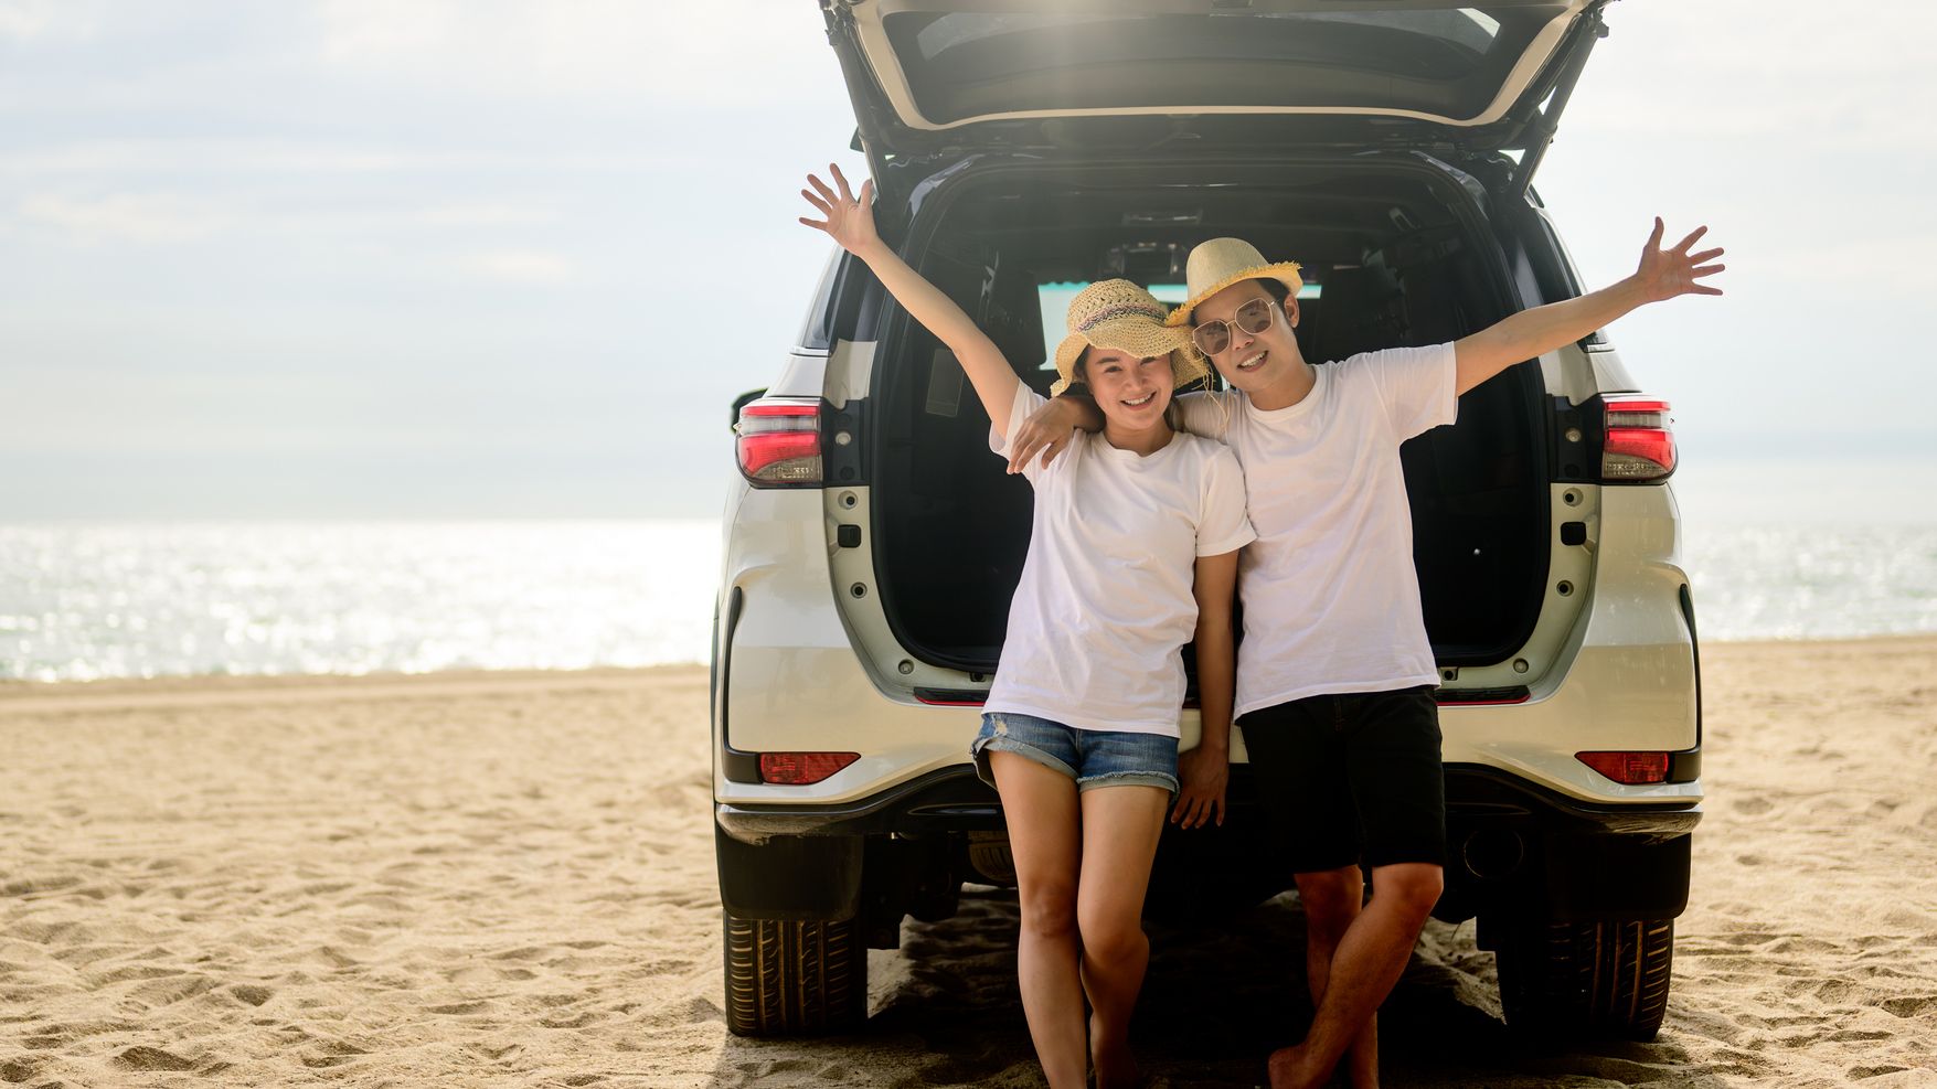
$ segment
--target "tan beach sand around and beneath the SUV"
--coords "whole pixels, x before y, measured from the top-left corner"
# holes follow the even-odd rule
[[[1937,1085],[1937,638],[1705,651],[1706,820],[1654,1044],[1515,1041],[1472,926],[1389,1085]],[[1040,1085],[1015,903],[870,953],[862,1035],[721,1021],[705,672],[0,686],[0,1083]],[[1302,917],[1153,928],[1156,1085],[1296,1035]]]

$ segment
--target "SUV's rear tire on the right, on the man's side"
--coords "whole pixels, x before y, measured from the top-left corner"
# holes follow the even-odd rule
[[[1672,918],[1550,922],[1495,951],[1499,1004],[1519,1033],[1652,1041],[1668,1011]]]

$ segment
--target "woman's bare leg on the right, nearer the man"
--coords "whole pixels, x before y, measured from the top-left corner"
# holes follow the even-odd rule
[[[1143,934],[1143,895],[1164,831],[1170,793],[1162,787],[1096,787],[1083,793],[1083,876],[1077,924],[1083,934],[1083,990],[1091,1000],[1091,1062],[1098,1089],[1137,1083],[1129,1054],[1129,1015],[1151,963]]]

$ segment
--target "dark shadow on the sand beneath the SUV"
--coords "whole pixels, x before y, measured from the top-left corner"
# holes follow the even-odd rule
[[[1042,1085],[1015,988],[1015,893],[970,887],[945,922],[907,922],[870,953],[868,1029],[817,1041],[728,1039],[719,1085]],[[1216,924],[1147,924],[1151,973],[1135,1046],[1154,1085],[1249,1087],[1304,1035],[1304,913],[1296,895]],[[1672,1042],[1538,1048],[1499,1019],[1493,955],[1472,924],[1428,924],[1381,1019],[1391,1085],[1534,1089],[1720,1081]]]

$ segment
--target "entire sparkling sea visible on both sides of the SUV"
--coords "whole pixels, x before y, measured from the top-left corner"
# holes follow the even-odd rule
[[[1937,525],[1701,523],[1703,639],[1937,632]],[[693,521],[0,525],[0,678],[703,663]]]

